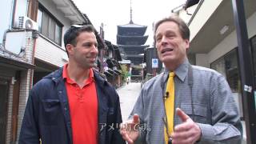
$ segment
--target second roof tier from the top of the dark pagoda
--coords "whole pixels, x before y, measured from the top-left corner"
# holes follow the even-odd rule
[[[118,45],[144,45],[148,35],[145,36],[117,36]]]

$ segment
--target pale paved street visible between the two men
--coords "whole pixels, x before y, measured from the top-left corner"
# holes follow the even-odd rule
[[[122,121],[125,121],[130,115],[131,110],[138,98],[138,94],[141,91],[140,82],[131,82],[128,85],[118,88],[118,94],[120,97],[120,106],[122,111]]]

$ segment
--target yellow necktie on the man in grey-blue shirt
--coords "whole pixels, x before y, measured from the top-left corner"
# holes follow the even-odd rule
[[[174,72],[170,72],[169,78],[166,85],[166,94],[168,92],[169,96],[165,100],[166,106],[166,117],[168,123],[168,133],[171,134],[174,130]],[[166,133],[166,126],[165,126],[165,140],[166,144],[168,143],[168,135]]]

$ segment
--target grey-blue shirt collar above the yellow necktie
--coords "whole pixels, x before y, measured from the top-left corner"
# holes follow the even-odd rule
[[[177,76],[182,82],[185,81],[189,65],[190,65],[190,63],[189,63],[188,59],[186,58],[184,60],[184,62],[182,62],[182,64],[180,66],[178,66],[178,68],[176,70],[174,70],[175,76]],[[165,68],[165,72],[164,72],[165,79],[168,77],[169,73],[170,73],[170,70],[167,70]]]

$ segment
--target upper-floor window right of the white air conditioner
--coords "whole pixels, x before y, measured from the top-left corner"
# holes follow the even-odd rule
[[[51,41],[62,45],[62,24],[41,4],[38,8],[39,33],[49,38]]]

